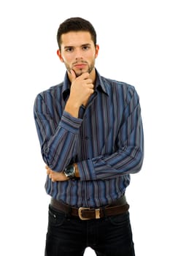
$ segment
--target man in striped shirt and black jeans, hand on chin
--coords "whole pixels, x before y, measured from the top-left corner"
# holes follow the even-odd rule
[[[38,94],[34,118],[51,196],[46,256],[134,256],[125,199],[130,174],[143,161],[139,97],[134,86],[102,77],[88,20],[58,28],[63,83]]]

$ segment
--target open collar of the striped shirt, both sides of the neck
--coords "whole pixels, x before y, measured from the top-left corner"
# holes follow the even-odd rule
[[[106,81],[103,77],[101,77],[97,69],[96,69],[96,86],[95,87],[96,87],[96,90],[103,91],[105,94],[109,94],[109,91],[107,90]],[[69,96],[69,93],[70,93],[70,80],[67,72],[63,79],[62,93],[63,93],[64,100],[66,99],[66,97]]]

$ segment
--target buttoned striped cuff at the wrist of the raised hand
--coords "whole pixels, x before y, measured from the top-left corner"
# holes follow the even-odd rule
[[[66,111],[63,111],[63,116],[61,117],[61,121],[59,124],[60,127],[68,130],[69,132],[77,134],[79,132],[81,124],[82,124],[82,119],[74,118],[72,115],[70,115]]]

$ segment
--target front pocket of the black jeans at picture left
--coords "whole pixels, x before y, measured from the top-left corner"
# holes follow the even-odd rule
[[[66,217],[64,214],[55,211],[51,206],[49,206],[48,210],[48,222],[49,225],[52,225],[53,227],[58,227],[63,225],[63,222],[65,222]]]

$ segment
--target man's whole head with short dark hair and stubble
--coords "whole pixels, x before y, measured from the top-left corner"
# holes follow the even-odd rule
[[[94,72],[98,45],[96,31],[88,20],[78,17],[63,21],[58,28],[57,41],[58,57],[68,72],[72,69],[77,76]]]

